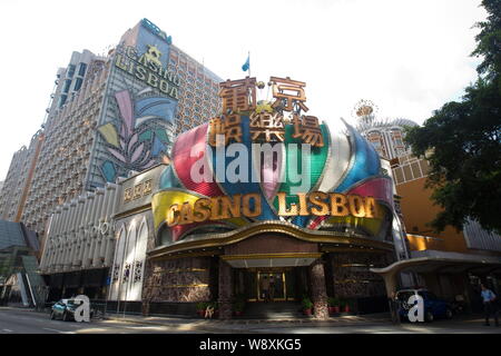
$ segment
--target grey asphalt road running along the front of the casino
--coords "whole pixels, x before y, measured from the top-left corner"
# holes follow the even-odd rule
[[[484,326],[481,317],[468,319],[435,320],[433,323],[389,322],[347,324],[232,324],[200,325],[195,322],[170,322],[155,325],[120,319],[76,323],[51,320],[48,314],[27,309],[0,307],[1,334],[501,334],[501,327]]]

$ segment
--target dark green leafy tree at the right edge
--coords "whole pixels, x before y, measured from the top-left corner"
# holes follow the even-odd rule
[[[431,166],[426,186],[443,208],[431,226],[462,229],[466,218],[501,234],[501,0],[483,0],[487,21],[477,23],[472,56],[482,56],[479,78],[460,102],[445,103],[406,142]]]

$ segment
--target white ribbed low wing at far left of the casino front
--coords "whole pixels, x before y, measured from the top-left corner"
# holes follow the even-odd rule
[[[86,294],[104,298],[115,239],[111,216],[119,186],[104,188],[71,199],[51,215],[40,273],[50,287],[49,300]]]

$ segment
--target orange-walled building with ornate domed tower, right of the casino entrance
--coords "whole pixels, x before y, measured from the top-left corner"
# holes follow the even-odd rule
[[[499,291],[501,273],[501,239],[469,219],[458,231],[446,227],[436,233],[430,222],[441,211],[425,186],[430,165],[418,158],[404,142],[404,128],[415,122],[406,119],[380,120],[377,108],[367,100],[355,106],[357,130],[373,145],[395,182],[395,211],[409,254],[387,268],[374,269],[385,276],[387,295],[395,288],[426,287],[442,298],[463,300],[471,310],[480,312],[482,280]],[[395,281],[395,276],[400,276]],[[405,277],[406,276],[406,277]],[[461,301],[460,301],[461,303]]]

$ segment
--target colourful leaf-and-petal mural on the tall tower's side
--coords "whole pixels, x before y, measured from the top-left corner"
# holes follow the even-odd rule
[[[129,90],[114,95],[118,117],[98,127],[109,159],[100,165],[106,181],[128,170],[141,171],[168,157],[177,101],[165,97],[132,100]]]

